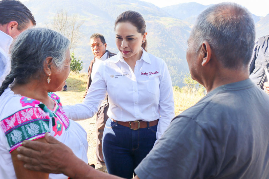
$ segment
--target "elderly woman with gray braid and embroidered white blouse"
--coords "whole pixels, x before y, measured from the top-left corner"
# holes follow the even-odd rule
[[[16,158],[22,141],[46,142],[46,132],[88,163],[86,132],[66,117],[53,93],[62,90],[70,72],[69,44],[53,30],[31,28],[11,45],[11,71],[0,88],[0,178],[68,178],[27,170]]]

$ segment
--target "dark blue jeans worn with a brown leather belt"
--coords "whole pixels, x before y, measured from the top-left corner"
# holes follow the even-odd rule
[[[106,121],[103,133],[103,157],[109,174],[132,178],[137,165],[156,141],[157,125],[138,130]]]

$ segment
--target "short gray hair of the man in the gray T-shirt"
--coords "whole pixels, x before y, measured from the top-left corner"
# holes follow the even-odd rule
[[[215,4],[197,18],[190,37],[196,53],[207,41],[224,67],[248,67],[255,42],[255,25],[249,11],[236,3]]]

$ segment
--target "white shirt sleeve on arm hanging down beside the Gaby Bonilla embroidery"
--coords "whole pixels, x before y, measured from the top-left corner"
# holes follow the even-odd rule
[[[171,77],[164,61],[161,64],[162,75],[160,77],[160,119],[158,122],[156,137],[161,138],[163,132],[167,129],[172,119],[175,117],[173,87]]]

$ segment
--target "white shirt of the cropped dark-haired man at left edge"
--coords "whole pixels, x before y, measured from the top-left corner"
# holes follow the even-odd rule
[[[13,38],[0,30],[0,86],[10,72],[9,47]]]

